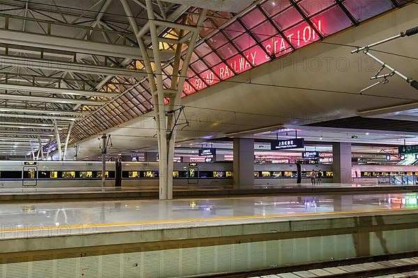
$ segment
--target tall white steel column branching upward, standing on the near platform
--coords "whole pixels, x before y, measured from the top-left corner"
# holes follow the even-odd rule
[[[206,18],[206,10],[202,10],[196,26],[185,24],[177,24],[173,22],[162,22],[155,19],[153,10],[153,3],[151,0],[146,0],[146,10],[148,13],[148,24],[139,30],[137,23],[134,21],[132,10],[127,3],[127,0],[121,0],[125,13],[130,21],[130,25],[135,35],[141,54],[144,57],[144,65],[148,73],[148,81],[153,94],[153,104],[155,111],[155,122],[157,129],[157,141],[160,161],[160,199],[173,198],[173,155],[176,140],[176,108],[180,106],[181,93],[185,83],[185,77],[189,62],[193,54],[194,45],[199,36],[200,26]],[[164,39],[159,38],[159,26],[176,29],[180,34],[179,38],[173,46],[176,47],[176,56],[174,60],[173,75],[171,77],[171,88],[164,88],[163,74],[162,74],[162,50],[160,49],[160,42]],[[187,30],[192,35],[184,35]],[[155,67],[151,66],[150,58],[148,56],[149,49],[146,49],[144,42],[146,34],[150,34],[151,43],[153,46],[153,58]],[[147,37],[149,38],[149,36]],[[187,39],[186,39],[187,38]],[[167,40],[164,40],[167,42]],[[180,59],[182,54],[183,44],[187,45],[185,58],[183,60],[183,67],[180,70]],[[153,68],[155,70],[153,70]],[[166,106],[165,99],[169,99],[169,104]],[[168,113],[169,112],[169,113]]]

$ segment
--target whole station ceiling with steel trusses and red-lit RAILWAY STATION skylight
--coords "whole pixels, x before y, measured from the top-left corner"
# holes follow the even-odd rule
[[[128,2],[137,24],[144,26],[144,1]],[[157,19],[193,24],[200,8],[184,2],[153,1]],[[418,101],[408,84],[397,80],[384,90],[357,95],[369,84],[375,65],[349,55],[355,46],[417,25],[418,5],[358,2],[240,0],[209,7],[183,91],[189,125],[183,126],[178,141],[247,136]],[[37,149],[39,142],[44,147],[55,142],[52,122],[62,141],[73,123],[70,145],[94,152],[102,132],[111,133],[120,149],[155,147],[150,86],[121,1],[0,3],[0,133],[6,138],[1,149],[5,154],[22,155]],[[166,38],[178,35],[169,29],[160,33]],[[169,88],[173,47],[164,49],[164,83]],[[380,48],[402,55],[387,60],[417,76],[417,63],[405,58],[413,57],[414,49],[416,40]],[[25,138],[29,144],[15,147],[15,141]]]

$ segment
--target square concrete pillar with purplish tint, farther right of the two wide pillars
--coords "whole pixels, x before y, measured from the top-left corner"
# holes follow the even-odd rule
[[[334,143],[332,145],[334,182],[352,183],[351,177],[351,144]]]

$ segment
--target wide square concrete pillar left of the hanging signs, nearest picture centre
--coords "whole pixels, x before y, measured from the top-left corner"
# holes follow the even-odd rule
[[[254,139],[233,139],[233,188],[254,187]]]

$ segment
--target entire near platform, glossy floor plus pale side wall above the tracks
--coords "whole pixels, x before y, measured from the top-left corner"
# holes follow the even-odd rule
[[[417,194],[1,204],[2,277],[187,277],[413,252]]]

